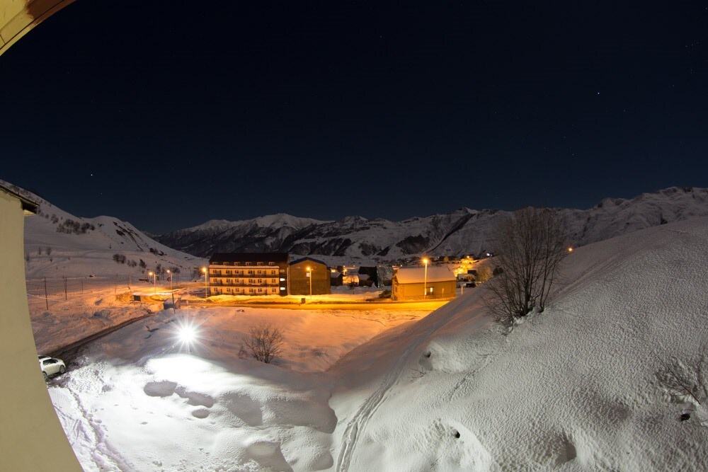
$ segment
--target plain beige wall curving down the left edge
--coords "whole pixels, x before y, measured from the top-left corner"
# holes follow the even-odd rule
[[[25,292],[23,229],[20,201],[0,190],[0,471],[81,471],[37,359]]]

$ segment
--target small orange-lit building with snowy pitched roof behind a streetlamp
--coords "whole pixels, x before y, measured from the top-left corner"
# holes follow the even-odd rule
[[[455,298],[457,277],[446,265],[401,267],[392,279],[392,299],[423,300]]]

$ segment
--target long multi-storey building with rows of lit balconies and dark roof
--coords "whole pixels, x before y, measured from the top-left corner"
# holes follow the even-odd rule
[[[211,295],[287,295],[287,253],[215,253]]]

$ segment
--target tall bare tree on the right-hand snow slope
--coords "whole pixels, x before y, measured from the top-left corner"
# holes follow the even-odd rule
[[[513,328],[517,318],[546,308],[567,255],[566,227],[554,210],[527,207],[503,221],[495,236],[503,272],[489,282],[485,303],[497,321]]]

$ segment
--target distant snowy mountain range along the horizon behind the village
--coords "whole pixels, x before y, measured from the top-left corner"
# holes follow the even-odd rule
[[[631,200],[606,198],[590,209],[559,209],[571,243],[584,246],[658,224],[708,215],[708,189],[671,187]],[[404,221],[346,217],[338,221],[275,214],[245,221],[212,220],[154,236],[190,254],[288,251],[299,255],[390,261],[429,253],[449,255],[493,251],[498,221],[509,212],[469,208]]]

